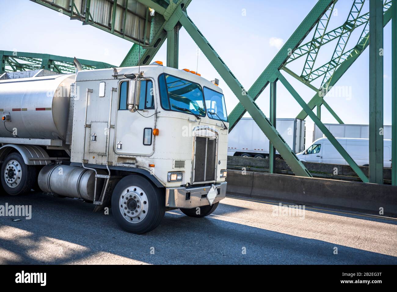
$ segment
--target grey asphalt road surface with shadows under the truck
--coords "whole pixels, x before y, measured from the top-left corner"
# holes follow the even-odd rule
[[[392,218],[315,207],[286,216],[228,197],[206,218],[169,211],[135,235],[75,199],[32,192],[0,196],[5,203],[32,205],[32,218],[0,217],[0,264],[397,264]]]

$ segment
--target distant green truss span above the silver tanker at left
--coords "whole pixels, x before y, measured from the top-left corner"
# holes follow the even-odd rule
[[[5,65],[10,66],[12,68],[12,71],[14,72],[37,69],[47,69],[59,73],[75,72],[73,58],[70,57],[29,52],[11,52],[3,50],[0,50],[0,56],[1,59],[4,61],[4,64],[1,64],[2,66],[0,67],[0,73],[4,73],[6,71]],[[81,63],[81,66],[84,70],[116,67],[104,62],[96,62],[85,59],[79,59],[79,62]]]

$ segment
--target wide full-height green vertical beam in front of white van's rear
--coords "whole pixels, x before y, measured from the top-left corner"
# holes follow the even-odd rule
[[[370,0],[369,179],[383,184],[383,2]]]

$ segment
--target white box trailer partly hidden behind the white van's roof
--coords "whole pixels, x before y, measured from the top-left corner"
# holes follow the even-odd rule
[[[369,138],[369,125],[356,124],[324,124],[335,138]],[[391,126],[383,126],[384,139],[391,139]],[[314,124],[313,141],[323,138],[325,135]]]

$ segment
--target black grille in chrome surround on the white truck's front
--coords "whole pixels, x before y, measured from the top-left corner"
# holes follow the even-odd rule
[[[215,180],[216,139],[196,137],[195,151],[194,182]]]

